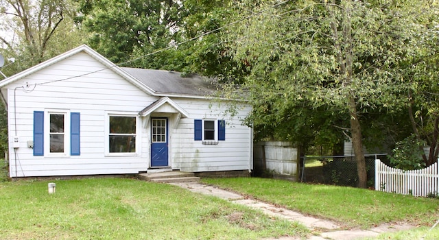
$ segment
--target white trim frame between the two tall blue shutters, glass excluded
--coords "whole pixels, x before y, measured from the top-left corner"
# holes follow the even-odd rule
[[[50,152],[50,115],[64,115],[64,152]],[[44,156],[47,157],[60,157],[60,156],[71,156],[71,138],[70,138],[70,128],[71,128],[71,112],[70,110],[61,109],[47,109],[44,111]]]

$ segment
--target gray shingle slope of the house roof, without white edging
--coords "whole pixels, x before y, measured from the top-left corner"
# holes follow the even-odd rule
[[[176,71],[134,69],[130,67],[121,67],[121,69],[137,78],[156,93],[163,93],[164,95],[205,96],[212,95],[217,90],[214,80],[200,75],[182,77],[181,73]]]

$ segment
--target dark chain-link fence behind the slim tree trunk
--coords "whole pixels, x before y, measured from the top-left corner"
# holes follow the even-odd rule
[[[374,187],[375,159],[386,162],[387,154],[366,154],[365,158],[368,187]],[[354,156],[306,156],[301,160],[301,182],[358,186],[357,163]]]

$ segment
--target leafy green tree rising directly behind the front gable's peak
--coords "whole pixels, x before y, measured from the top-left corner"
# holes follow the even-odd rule
[[[125,66],[159,69],[172,63],[187,10],[180,1],[80,0],[77,21],[90,33],[88,45]],[[168,49],[169,51],[162,51]],[[152,54],[154,53],[154,54]],[[132,61],[133,59],[138,61]],[[174,69],[169,69],[174,70]]]

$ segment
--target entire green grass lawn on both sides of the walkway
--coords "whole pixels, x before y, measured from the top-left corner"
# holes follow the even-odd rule
[[[1,171],[6,172],[4,166]],[[2,175],[0,173],[0,175]],[[0,178],[0,239],[262,239],[305,227],[169,184],[123,178],[8,182]],[[439,199],[266,178],[204,178],[207,184],[344,228],[406,221],[414,230],[377,239],[439,239]]]

